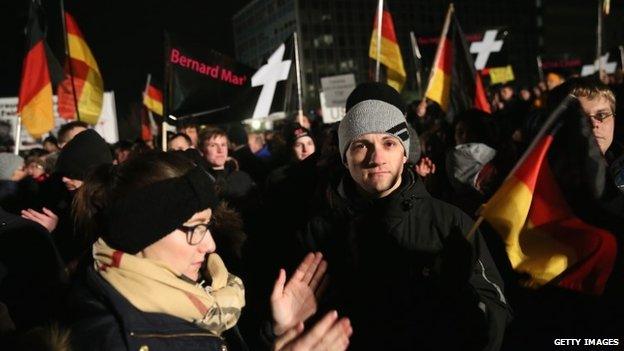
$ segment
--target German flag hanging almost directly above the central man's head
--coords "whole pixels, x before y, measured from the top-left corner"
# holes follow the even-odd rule
[[[373,60],[377,60],[377,37],[379,36],[377,28],[378,16],[375,14],[373,22],[373,34],[371,36],[368,56]],[[405,84],[405,68],[403,67],[403,57],[401,56],[401,48],[394,31],[394,22],[390,11],[385,8],[381,16],[381,45],[379,52],[379,61],[386,67],[387,83],[397,91],[403,89]]]

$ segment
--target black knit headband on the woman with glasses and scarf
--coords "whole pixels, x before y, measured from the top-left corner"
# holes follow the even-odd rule
[[[195,167],[182,177],[133,190],[112,203],[104,212],[103,237],[112,248],[135,254],[218,203],[209,175]]]

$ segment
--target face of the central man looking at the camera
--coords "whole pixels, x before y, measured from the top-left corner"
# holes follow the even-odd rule
[[[353,180],[373,198],[387,196],[399,187],[407,161],[401,141],[385,133],[355,138],[346,151],[346,159]]]

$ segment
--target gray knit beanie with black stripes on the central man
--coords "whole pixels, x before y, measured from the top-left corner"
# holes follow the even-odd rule
[[[338,147],[343,161],[351,141],[368,133],[394,135],[401,140],[405,155],[409,155],[410,138],[403,112],[381,100],[364,100],[351,107],[338,126]]]

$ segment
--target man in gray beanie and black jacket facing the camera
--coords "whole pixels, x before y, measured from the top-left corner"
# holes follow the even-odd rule
[[[345,173],[297,236],[303,252],[320,250],[339,267],[326,303],[350,316],[351,347],[498,350],[510,319],[502,278],[481,234],[468,237],[470,217],[433,198],[406,165],[399,94],[366,83],[347,105]]]

